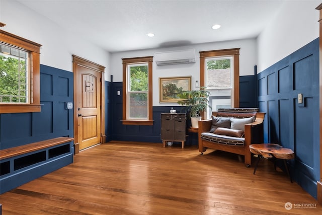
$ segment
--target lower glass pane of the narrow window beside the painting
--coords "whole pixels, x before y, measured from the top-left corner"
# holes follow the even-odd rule
[[[129,118],[147,119],[147,92],[131,92],[129,100]]]

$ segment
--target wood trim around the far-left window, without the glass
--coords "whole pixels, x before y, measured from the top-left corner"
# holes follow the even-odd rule
[[[30,55],[30,104],[0,104],[0,113],[40,112],[40,47],[42,45],[9,32],[0,30],[0,41],[9,45],[23,48]]]

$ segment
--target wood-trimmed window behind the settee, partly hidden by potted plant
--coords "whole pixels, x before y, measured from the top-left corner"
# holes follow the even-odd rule
[[[239,48],[201,51],[200,86],[210,91],[212,111],[239,107]],[[204,117],[210,118],[212,111]]]

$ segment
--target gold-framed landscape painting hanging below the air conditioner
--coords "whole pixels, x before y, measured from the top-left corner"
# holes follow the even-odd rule
[[[183,91],[191,90],[191,76],[159,78],[160,102],[177,102],[177,95]]]

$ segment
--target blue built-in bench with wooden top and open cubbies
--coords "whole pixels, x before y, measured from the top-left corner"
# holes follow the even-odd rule
[[[56,137],[0,150],[0,194],[72,162],[72,137]]]

